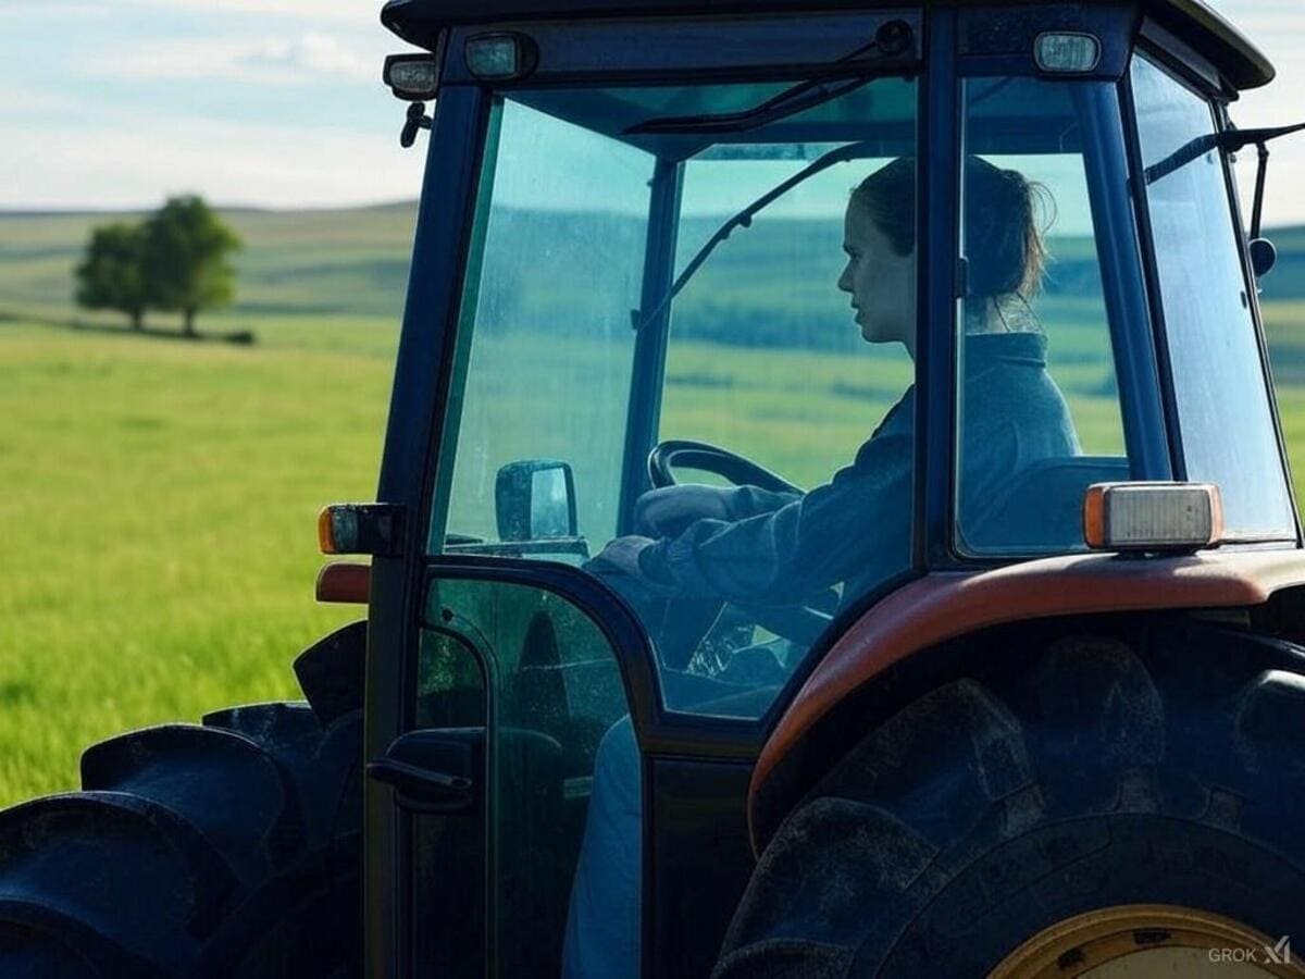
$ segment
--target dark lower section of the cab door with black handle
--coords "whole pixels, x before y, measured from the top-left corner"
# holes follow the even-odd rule
[[[647,662],[629,614],[572,568],[429,565],[407,730],[368,766],[401,825],[408,975],[552,976],[583,954],[568,922],[600,748],[619,769],[604,804],[633,800],[620,859],[637,886],[642,775],[622,663],[646,683]],[[612,785],[633,795],[613,799]],[[633,936],[637,890],[624,899]]]

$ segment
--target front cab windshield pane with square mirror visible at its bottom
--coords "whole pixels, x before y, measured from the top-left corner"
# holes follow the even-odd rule
[[[654,158],[515,101],[492,128],[432,544],[578,561],[616,533]]]

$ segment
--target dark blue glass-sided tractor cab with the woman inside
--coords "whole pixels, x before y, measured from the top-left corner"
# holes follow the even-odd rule
[[[758,756],[903,587],[1298,546],[1272,69],[1205,4],[655,7],[382,14],[428,163],[384,503],[326,520],[375,975],[706,975]],[[1100,484],[1161,492],[1084,536]]]

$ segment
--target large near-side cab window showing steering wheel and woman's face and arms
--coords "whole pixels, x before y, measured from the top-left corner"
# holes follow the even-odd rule
[[[765,713],[911,561],[916,101],[505,94],[432,550],[582,565],[647,627],[667,707]]]

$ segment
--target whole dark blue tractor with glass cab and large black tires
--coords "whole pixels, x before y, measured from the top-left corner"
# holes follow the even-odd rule
[[[0,815],[0,974],[1305,974],[1253,43],[381,20],[428,148],[377,501],[318,526],[365,617]]]

